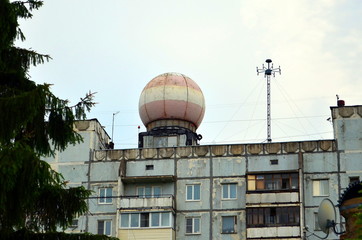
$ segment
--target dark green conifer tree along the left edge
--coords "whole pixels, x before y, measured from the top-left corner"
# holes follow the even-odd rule
[[[93,94],[69,106],[49,84],[36,84],[28,75],[30,66],[50,57],[14,45],[25,40],[18,19],[31,18],[42,4],[0,0],[0,236],[19,229],[55,231],[87,211],[90,192],[67,188],[41,158],[82,140],[73,124],[94,105]]]

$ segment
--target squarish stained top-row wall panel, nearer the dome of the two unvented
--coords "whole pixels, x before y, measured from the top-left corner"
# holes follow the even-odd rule
[[[210,176],[210,159],[189,158],[177,160],[178,177],[205,177]]]

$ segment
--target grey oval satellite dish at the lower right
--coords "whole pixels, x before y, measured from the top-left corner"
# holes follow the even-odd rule
[[[318,223],[320,229],[328,234],[329,229],[334,227],[336,222],[336,210],[331,200],[323,199],[318,208]]]

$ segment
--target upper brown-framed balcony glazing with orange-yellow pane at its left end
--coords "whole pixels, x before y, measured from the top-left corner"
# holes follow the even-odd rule
[[[248,191],[294,191],[299,188],[298,173],[248,175]]]

